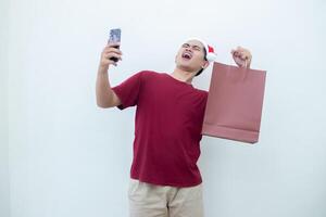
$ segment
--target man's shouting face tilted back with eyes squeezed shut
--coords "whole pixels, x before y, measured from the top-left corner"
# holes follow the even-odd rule
[[[198,40],[185,42],[179,49],[175,62],[178,68],[190,73],[197,73],[209,64],[204,60],[204,47]]]

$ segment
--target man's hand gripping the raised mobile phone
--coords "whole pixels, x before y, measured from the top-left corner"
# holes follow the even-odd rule
[[[120,46],[118,42],[108,43],[108,46],[105,46],[105,48],[103,49],[102,54],[101,54],[100,67],[108,68],[110,64],[113,64],[116,66],[116,62],[110,60],[111,58],[117,58],[118,60],[122,60],[121,50],[115,48],[117,46]]]

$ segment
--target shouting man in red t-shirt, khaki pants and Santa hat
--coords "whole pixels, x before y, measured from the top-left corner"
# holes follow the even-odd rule
[[[97,104],[124,110],[137,106],[134,158],[128,189],[130,217],[202,217],[202,179],[197,166],[208,91],[191,81],[210,64],[212,48],[186,41],[175,56],[172,74],[142,71],[111,88],[109,66],[122,52],[108,44],[97,77]],[[231,51],[239,67],[249,67],[251,54]]]

